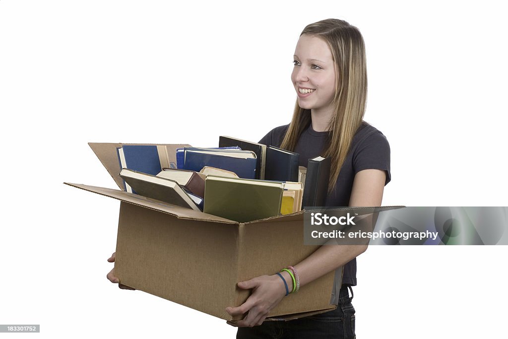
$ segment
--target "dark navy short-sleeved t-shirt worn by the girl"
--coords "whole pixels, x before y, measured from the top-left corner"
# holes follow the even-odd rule
[[[274,128],[260,140],[260,143],[279,147],[288,127],[289,125],[284,125]],[[302,133],[293,150],[300,155],[300,166],[307,167],[309,159],[321,156],[328,134],[329,132],[315,132],[312,130],[312,125]],[[353,137],[350,151],[340,169],[337,186],[327,196],[326,206],[348,206],[355,175],[365,169],[384,170],[386,172],[385,185],[391,180],[390,145],[388,140],[383,133],[363,122]],[[340,281],[340,276],[337,277],[337,274],[336,280]],[[356,283],[355,258],[344,266],[342,285],[354,286]],[[336,291],[335,295],[338,297],[338,291]]]

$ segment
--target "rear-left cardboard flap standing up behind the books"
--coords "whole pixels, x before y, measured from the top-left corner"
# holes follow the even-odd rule
[[[103,166],[108,171],[109,175],[115,180],[118,187],[123,190],[123,180],[120,178],[120,164],[118,162],[118,155],[116,148],[122,145],[161,145],[166,146],[168,150],[168,158],[170,162],[176,163],[176,149],[180,147],[190,147],[187,144],[124,144],[124,143],[111,143],[111,142],[89,142],[88,145],[96,153],[97,158],[101,161]],[[164,164],[163,164],[164,165]],[[164,165],[163,167],[166,167]]]

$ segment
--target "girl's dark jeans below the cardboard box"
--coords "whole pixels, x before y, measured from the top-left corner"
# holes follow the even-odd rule
[[[351,297],[348,293],[351,290]],[[289,321],[265,321],[260,326],[239,327],[237,339],[355,339],[355,308],[351,304],[353,290],[342,286],[337,309]]]

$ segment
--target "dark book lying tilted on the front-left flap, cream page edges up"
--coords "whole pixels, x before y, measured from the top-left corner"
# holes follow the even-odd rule
[[[196,211],[200,210],[193,199],[189,198],[187,193],[174,180],[126,168],[120,171],[120,177],[136,191],[136,194],[173,205],[192,208]]]

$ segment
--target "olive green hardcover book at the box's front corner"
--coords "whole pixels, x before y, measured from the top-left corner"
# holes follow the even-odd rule
[[[246,223],[280,214],[283,182],[208,176],[203,211]]]

